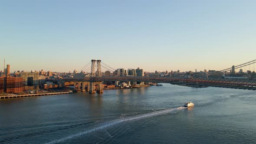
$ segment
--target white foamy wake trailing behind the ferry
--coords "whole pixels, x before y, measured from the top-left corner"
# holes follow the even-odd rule
[[[98,131],[98,130],[102,130],[104,128],[108,128],[108,127],[113,126],[115,124],[123,123],[125,121],[136,121],[136,120],[143,119],[143,118],[150,118],[150,117],[154,117],[154,116],[158,116],[158,115],[166,115],[166,114],[174,113],[174,112],[176,112],[178,110],[182,110],[182,109],[186,109],[186,107],[168,108],[168,109],[164,109],[164,110],[160,110],[160,111],[150,112],[150,113],[147,113],[147,114],[137,115],[137,116],[134,116],[134,117],[117,119],[117,120],[110,121],[110,122],[107,122],[105,124],[102,124],[101,126],[93,128],[91,130],[84,131],[84,132],[81,132],[81,133],[78,133],[78,134],[73,134],[73,135],[70,135],[68,137],[63,137],[62,139],[59,139],[59,140],[50,141],[46,144],[60,143],[60,142],[63,142],[63,141],[66,141],[66,140],[69,140],[69,139],[72,139],[72,138],[75,138],[75,137],[79,137],[79,136],[82,136],[82,135],[85,135],[85,134],[89,134],[93,131]]]

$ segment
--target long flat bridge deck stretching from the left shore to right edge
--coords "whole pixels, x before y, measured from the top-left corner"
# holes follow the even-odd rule
[[[138,76],[110,76],[110,77],[83,77],[83,78],[66,78],[66,82],[71,81],[121,81],[121,82],[157,82],[171,84],[189,84],[189,85],[207,85],[223,88],[241,88],[256,90],[256,81],[249,80],[226,80],[226,79],[191,79],[182,77],[138,77]]]

